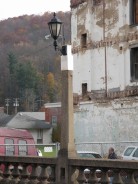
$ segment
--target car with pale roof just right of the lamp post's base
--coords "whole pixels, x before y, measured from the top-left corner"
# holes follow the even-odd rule
[[[102,158],[97,152],[92,151],[77,151],[78,156],[81,158]]]

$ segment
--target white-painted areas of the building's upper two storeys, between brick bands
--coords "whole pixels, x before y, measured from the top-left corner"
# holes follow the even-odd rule
[[[105,37],[115,40],[115,38],[127,35],[128,32],[134,32],[129,28],[129,1],[119,0],[112,1],[118,3],[117,14],[114,18],[118,21],[113,25],[113,17],[105,18]],[[88,3],[88,4],[87,4]],[[83,3],[79,7],[72,9],[71,18],[71,34],[72,47],[80,46],[81,34],[87,32],[89,41],[103,40],[103,27],[97,25],[97,11],[92,11],[92,1]],[[110,9],[110,2],[106,3],[106,9]],[[101,16],[102,16],[102,6]],[[109,25],[111,24],[111,26]],[[82,28],[82,26],[84,27]],[[124,29],[124,27],[128,27]],[[107,27],[109,29],[107,29]],[[128,43],[117,43],[106,47],[106,62],[107,62],[107,89],[120,88],[123,91],[126,86],[137,85],[136,82],[131,82],[130,77],[130,46]],[[119,50],[122,46],[123,50]],[[74,73],[73,73],[73,92],[82,93],[82,83],[88,84],[88,91],[105,89],[105,50],[104,47],[79,51],[74,54]]]

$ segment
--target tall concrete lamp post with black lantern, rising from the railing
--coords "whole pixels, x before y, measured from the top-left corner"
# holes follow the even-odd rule
[[[73,56],[71,54],[71,46],[62,45],[61,48],[57,44],[57,39],[62,29],[62,22],[54,17],[48,22],[51,37],[54,39],[55,50],[61,53],[61,82],[62,82],[62,98],[61,98],[61,137],[60,150],[58,153],[57,178],[58,184],[71,183],[68,175],[68,158],[76,157],[74,143],[74,115],[73,115],[73,88],[72,88],[72,71]]]

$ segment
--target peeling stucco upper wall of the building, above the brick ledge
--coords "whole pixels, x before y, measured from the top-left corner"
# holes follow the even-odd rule
[[[138,44],[137,26],[130,26],[128,0],[87,0],[72,8],[74,93],[137,86],[130,76],[130,48]],[[82,48],[81,35],[87,34]]]

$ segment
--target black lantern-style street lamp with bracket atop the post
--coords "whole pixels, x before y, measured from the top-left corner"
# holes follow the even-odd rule
[[[62,47],[60,48],[57,44],[57,39],[60,35],[61,29],[62,29],[62,24],[63,23],[61,22],[60,19],[58,19],[56,17],[56,13],[54,12],[53,18],[51,19],[50,22],[48,22],[51,37],[54,39],[53,45],[55,47],[55,50],[59,50],[62,55],[67,55],[66,45],[62,45]]]

